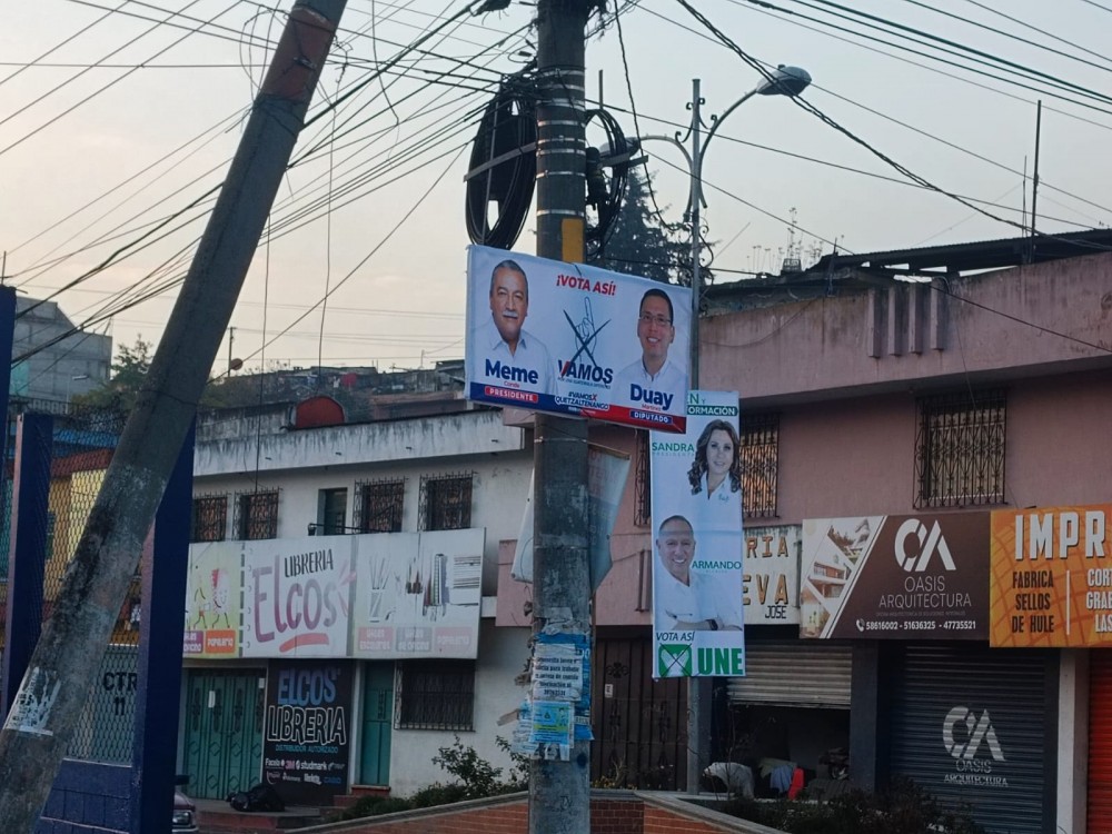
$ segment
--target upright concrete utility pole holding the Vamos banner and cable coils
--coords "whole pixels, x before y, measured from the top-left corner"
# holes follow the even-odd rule
[[[537,255],[572,262],[584,259],[584,42],[592,6],[592,0],[537,6]],[[533,633],[589,646],[587,421],[537,415],[535,444]],[[569,762],[533,762],[529,833],[587,831],[590,743],[576,742]]]

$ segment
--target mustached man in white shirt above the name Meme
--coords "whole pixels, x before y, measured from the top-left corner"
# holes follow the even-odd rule
[[[490,320],[478,328],[480,378],[506,388],[553,393],[548,349],[525,329],[529,281],[514,260],[500,261],[490,274]]]

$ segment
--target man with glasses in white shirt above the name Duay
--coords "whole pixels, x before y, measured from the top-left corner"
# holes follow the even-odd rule
[[[646,290],[637,315],[641,358],[614,378],[615,405],[671,413],[685,407],[687,370],[684,364],[668,358],[675,338],[668,294],[656,288]]]

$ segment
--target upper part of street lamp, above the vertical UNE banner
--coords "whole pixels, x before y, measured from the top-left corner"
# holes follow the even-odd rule
[[[687,209],[684,211],[684,220],[691,220],[692,225],[692,388],[698,388],[698,310],[702,289],[702,278],[699,276],[699,249],[702,246],[702,237],[699,235],[699,209],[706,207],[706,200],[703,197],[703,159],[706,156],[706,149],[711,145],[711,139],[714,138],[718,128],[722,127],[722,122],[726,120],[726,117],[754,96],[798,96],[810,83],[811,73],[805,69],[801,69],[800,67],[787,67],[782,63],[775,70],[770,72],[767,78],[762,79],[761,83],[737,99],[737,101],[733,105],[727,107],[722,116],[712,116],[711,129],[706,133],[706,139],[703,140],[703,119],[699,116],[699,106],[703,103],[703,99],[699,96],[699,80],[695,78],[692,79],[692,101],[687,106],[692,111],[692,121],[687,129],[687,133],[692,140],[691,151],[688,152],[687,148],[684,147],[683,141],[679,139],[678,131],[676,131],[675,136],[641,137],[641,141],[643,142],[658,139],[671,142],[679,148],[684,158],[687,160],[687,170],[691,175],[691,190],[687,195]]]

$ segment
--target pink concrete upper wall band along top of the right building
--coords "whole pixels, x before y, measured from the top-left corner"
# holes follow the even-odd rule
[[[1110,287],[1112,255],[1094,255],[712,316],[702,383],[763,405],[1109,367]]]

